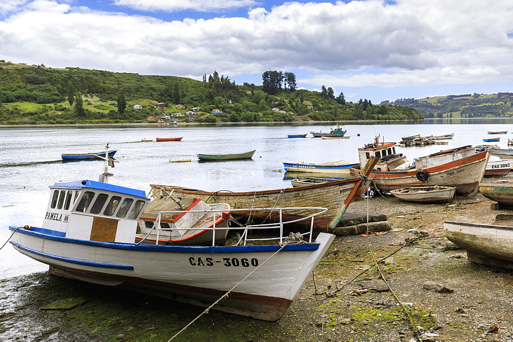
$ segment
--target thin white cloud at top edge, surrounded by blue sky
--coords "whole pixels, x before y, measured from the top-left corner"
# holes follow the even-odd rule
[[[253,0],[113,0],[115,5],[140,11],[218,11],[250,7]]]

